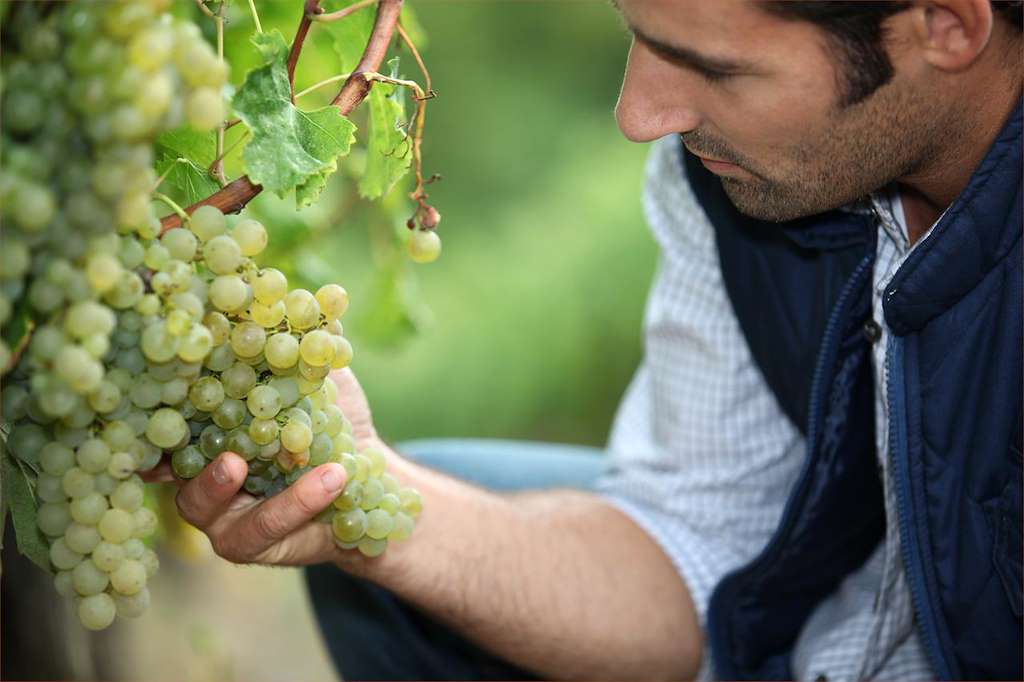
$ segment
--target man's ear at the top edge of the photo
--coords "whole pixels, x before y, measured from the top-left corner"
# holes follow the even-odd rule
[[[968,69],[992,36],[989,0],[918,0],[913,35],[925,61],[941,71]]]

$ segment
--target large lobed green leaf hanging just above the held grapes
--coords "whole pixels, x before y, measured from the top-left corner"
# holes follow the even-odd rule
[[[280,196],[302,187],[300,204],[312,201],[338,157],[348,154],[355,124],[336,106],[303,112],[292,103],[288,45],[280,32],[257,34],[252,42],[265,63],[249,72],[232,100],[253,135],[242,153],[246,171]]]

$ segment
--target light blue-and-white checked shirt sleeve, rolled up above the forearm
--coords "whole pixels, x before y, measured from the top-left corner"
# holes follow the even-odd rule
[[[615,416],[597,491],[673,561],[703,628],[715,586],[774,530],[804,439],[751,357],[677,144],[675,135],[656,142],[647,163],[644,212],[660,260],[644,359]]]

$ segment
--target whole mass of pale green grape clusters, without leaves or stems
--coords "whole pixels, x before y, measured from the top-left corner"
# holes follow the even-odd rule
[[[34,494],[57,591],[94,630],[148,604],[158,518],[137,472],[165,456],[187,478],[236,452],[253,495],[339,462],[350,481],[321,520],[368,555],[420,509],[381,453],[356,452],[325,381],[352,357],[345,290],[289,291],[252,260],[263,225],[212,207],[161,235],[157,136],[226,116],[225,65],[168,5],[4,7],[0,328],[28,344],[0,341],[2,456]]]

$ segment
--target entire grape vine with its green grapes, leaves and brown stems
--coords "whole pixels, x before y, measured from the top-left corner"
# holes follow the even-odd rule
[[[264,225],[225,215],[264,189],[294,193],[299,206],[315,201],[356,142],[347,115],[371,98],[383,115],[371,117],[376,165],[360,189],[382,196],[413,168],[409,254],[437,257],[440,215],[426,201],[420,154],[434,92],[398,24],[402,1],[325,12],[306,0],[289,45],[263,31],[250,0],[262,65],[230,102],[226,3],[196,4],[215,25],[215,48],[195,23],[167,13],[169,0],[0,5],[0,521],[9,511],[19,551],[53,572],[94,630],[148,604],[158,517],[138,472],[165,459],[187,479],[237,453],[253,496],[336,462],[348,481],[316,520],[331,524],[340,548],[367,556],[408,538],[421,510],[385,456],[358,447],[336,404],[328,375],[353,355],[341,323],[347,292],[290,289],[284,273],[256,262]],[[355,68],[319,84],[344,80],[332,103],[298,109],[295,72],[313,25],[374,4]],[[425,90],[393,65],[381,73],[395,34]],[[416,112],[399,133],[410,158],[376,160],[393,155],[396,106],[375,84],[414,92]],[[236,142],[246,173],[228,180],[225,131],[234,125],[246,129]],[[198,188],[212,190],[194,196]],[[161,206],[173,212],[160,218]]]

